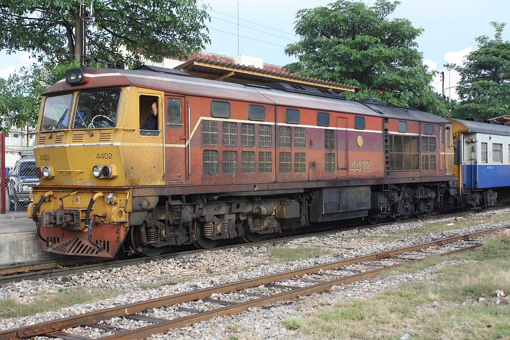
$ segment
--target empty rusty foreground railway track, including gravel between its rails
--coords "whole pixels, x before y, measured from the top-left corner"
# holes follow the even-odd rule
[[[385,271],[405,264],[473,249],[481,245],[477,240],[472,240],[473,238],[502,231],[505,228],[501,227],[459,235],[362,257],[330,262],[103,309],[79,316],[4,330],[0,332],[0,340],[27,339],[34,336],[63,338],[65,340],[90,339],[89,337],[75,334],[79,332],[78,329],[95,329],[100,331],[101,335],[105,335],[99,337],[101,340],[142,339],[152,334],[190,326],[214,317],[235,315],[250,307],[264,307],[278,301],[289,301],[300,296],[324,292],[333,286],[376,277]],[[452,243],[460,240],[465,240],[465,243],[468,243],[468,245],[452,245]],[[449,249],[445,249],[445,247],[449,247]],[[451,249],[452,247],[454,249]],[[354,264],[364,265],[366,270],[346,268]],[[271,289],[271,293],[254,293],[259,292],[259,290],[253,290],[255,287]],[[239,300],[240,297],[242,301]],[[160,314],[165,314],[167,317],[162,318],[160,314],[158,314],[158,317],[155,317],[156,311],[161,311]],[[123,328],[118,325],[118,320],[136,321],[138,324],[143,322],[143,325],[140,327]]]

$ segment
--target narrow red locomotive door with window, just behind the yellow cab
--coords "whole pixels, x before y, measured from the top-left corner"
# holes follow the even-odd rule
[[[184,97],[165,96],[165,181],[186,182],[186,102]]]

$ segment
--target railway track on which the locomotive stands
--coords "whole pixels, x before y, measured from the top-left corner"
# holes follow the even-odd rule
[[[457,216],[463,216],[466,214],[471,213],[486,213],[488,211],[497,211],[500,209],[507,208],[506,206],[503,207],[495,207],[490,209],[479,209],[479,210],[472,210],[467,212],[455,212],[450,214],[441,214],[441,215],[431,215],[431,216],[425,216],[420,218],[420,220],[433,220],[438,218],[445,218],[445,217],[457,217]],[[366,224],[360,224],[360,222],[352,222],[352,226],[347,226],[346,228],[342,228],[341,230],[352,230],[352,229],[364,229],[364,228],[370,228],[374,229],[379,226],[389,225],[389,224],[399,224],[399,223],[406,223],[410,222],[413,219],[405,219],[402,221],[391,221],[391,222],[384,222],[384,223],[378,223],[374,225],[366,225]],[[283,243],[287,242],[289,240],[293,240],[299,237],[313,237],[313,236],[322,236],[322,235],[328,235],[331,233],[336,233],[339,231],[338,228],[331,228],[331,226],[324,228],[323,231],[320,232],[314,232],[310,233],[312,230],[317,230],[317,228],[310,228],[310,230],[307,232],[307,229],[303,229],[299,234],[293,234],[288,233],[290,236],[283,235],[279,237],[273,237],[269,239],[264,239],[260,242],[256,243],[229,243],[224,246],[216,247],[214,249],[230,249],[230,248],[238,248],[242,246],[258,246],[268,243]],[[8,282],[19,282],[21,280],[37,280],[40,278],[48,278],[48,277],[55,277],[55,276],[62,276],[62,275],[72,275],[77,273],[83,273],[86,271],[95,271],[95,270],[103,270],[108,268],[118,268],[122,266],[130,266],[130,265],[136,265],[141,263],[147,263],[150,261],[158,261],[158,260],[165,260],[165,259],[173,259],[173,258],[179,258],[184,257],[188,255],[192,255],[195,253],[199,253],[203,251],[203,249],[191,249],[192,246],[189,245],[190,250],[185,251],[179,251],[179,252],[170,252],[170,253],[164,253],[156,257],[136,257],[136,258],[129,258],[129,259],[118,259],[118,260],[105,260],[101,258],[90,258],[90,257],[72,257],[66,260],[53,260],[53,261],[45,261],[45,262],[39,262],[39,263],[29,263],[29,264],[21,264],[21,265],[14,265],[14,266],[8,266],[4,268],[0,268],[0,285],[6,284]]]

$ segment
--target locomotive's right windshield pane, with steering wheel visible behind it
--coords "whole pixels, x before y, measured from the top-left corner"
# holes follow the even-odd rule
[[[72,128],[114,127],[117,122],[120,96],[120,89],[80,92]]]

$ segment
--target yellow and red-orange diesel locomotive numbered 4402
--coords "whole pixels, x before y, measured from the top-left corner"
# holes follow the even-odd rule
[[[71,69],[43,95],[28,215],[44,251],[112,258],[492,205],[461,124],[288,83]]]

